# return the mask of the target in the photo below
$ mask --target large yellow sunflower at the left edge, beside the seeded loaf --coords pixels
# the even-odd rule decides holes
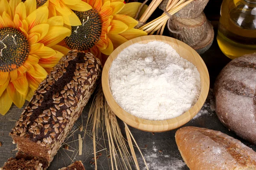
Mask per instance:
[[[36,0],[0,0],[0,113],[21,108],[47,72],[67,53],[56,45],[70,34],[62,16],[48,19]]]

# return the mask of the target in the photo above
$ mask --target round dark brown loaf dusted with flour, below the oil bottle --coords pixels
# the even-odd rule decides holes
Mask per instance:
[[[218,75],[213,93],[220,121],[256,144],[256,53],[228,63]]]

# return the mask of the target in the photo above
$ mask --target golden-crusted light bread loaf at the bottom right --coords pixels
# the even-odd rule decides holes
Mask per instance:
[[[256,152],[220,131],[188,126],[175,139],[190,170],[256,170]]]

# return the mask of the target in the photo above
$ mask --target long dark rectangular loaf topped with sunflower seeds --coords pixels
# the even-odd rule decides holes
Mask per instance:
[[[93,93],[99,59],[77,50],[63,56],[41,82],[10,135],[20,152],[51,162]]]

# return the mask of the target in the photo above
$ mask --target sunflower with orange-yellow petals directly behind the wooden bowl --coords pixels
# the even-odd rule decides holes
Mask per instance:
[[[147,35],[135,29],[137,20],[125,14],[118,14],[124,0],[83,0],[92,9],[74,11],[81,21],[81,26],[72,26],[72,33],[60,45],[81,51],[90,50],[97,57],[110,55],[122,43],[135,37]]]

